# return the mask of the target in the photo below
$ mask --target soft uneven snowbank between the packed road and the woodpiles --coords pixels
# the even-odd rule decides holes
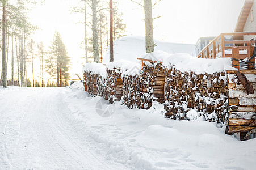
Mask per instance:
[[[110,117],[96,113],[101,97],[79,99],[66,89],[65,101],[77,120],[74,128],[88,132],[96,152],[106,160],[131,169],[254,169],[256,139],[237,141],[225,134],[225,126],[197,120],[164,118],[163,105],[127,109],[116,102]],[[150,113],[150,114],[149,114]],[[85,127],[78,126],[85,121]],[[234,149],[236,148],[236,149]]]

